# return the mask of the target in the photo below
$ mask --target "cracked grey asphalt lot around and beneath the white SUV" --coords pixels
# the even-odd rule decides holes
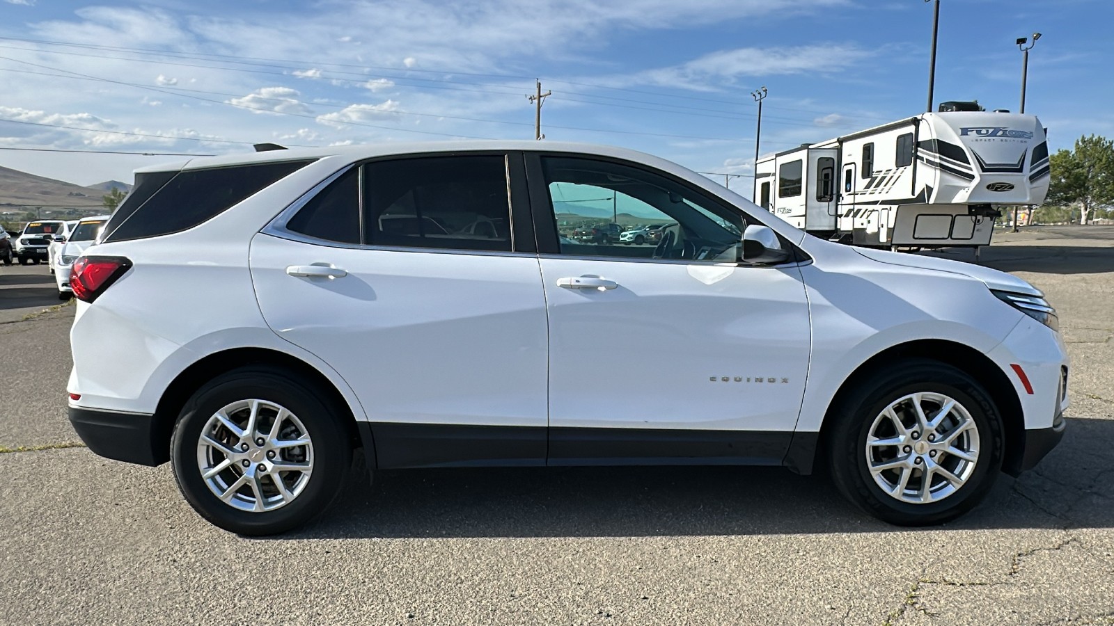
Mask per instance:
[[[822,475],[563,468],[361,473],[311,526],[238,537],[168,466],[68,447],[74,307],[23,320],[6,290],[49,274],[0,267],[0,450],[31,449],[0,453],[0,624],[1114,625],[1114,228],[995,238],[981,263],[1059,310],[1068,430],[931,529],[868,518]]]

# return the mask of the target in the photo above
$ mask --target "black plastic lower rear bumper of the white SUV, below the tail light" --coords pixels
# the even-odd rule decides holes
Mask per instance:
[[[101,457],[140,466],[169,460],[169,450],[159,444],[165,439],[154,415],[70,407],[69,419],[81,441]]]

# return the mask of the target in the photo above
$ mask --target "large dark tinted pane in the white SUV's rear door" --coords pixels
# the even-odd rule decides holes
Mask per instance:
[[[502,156],[407,158],[363,167],[363,243],[510,251]]]

